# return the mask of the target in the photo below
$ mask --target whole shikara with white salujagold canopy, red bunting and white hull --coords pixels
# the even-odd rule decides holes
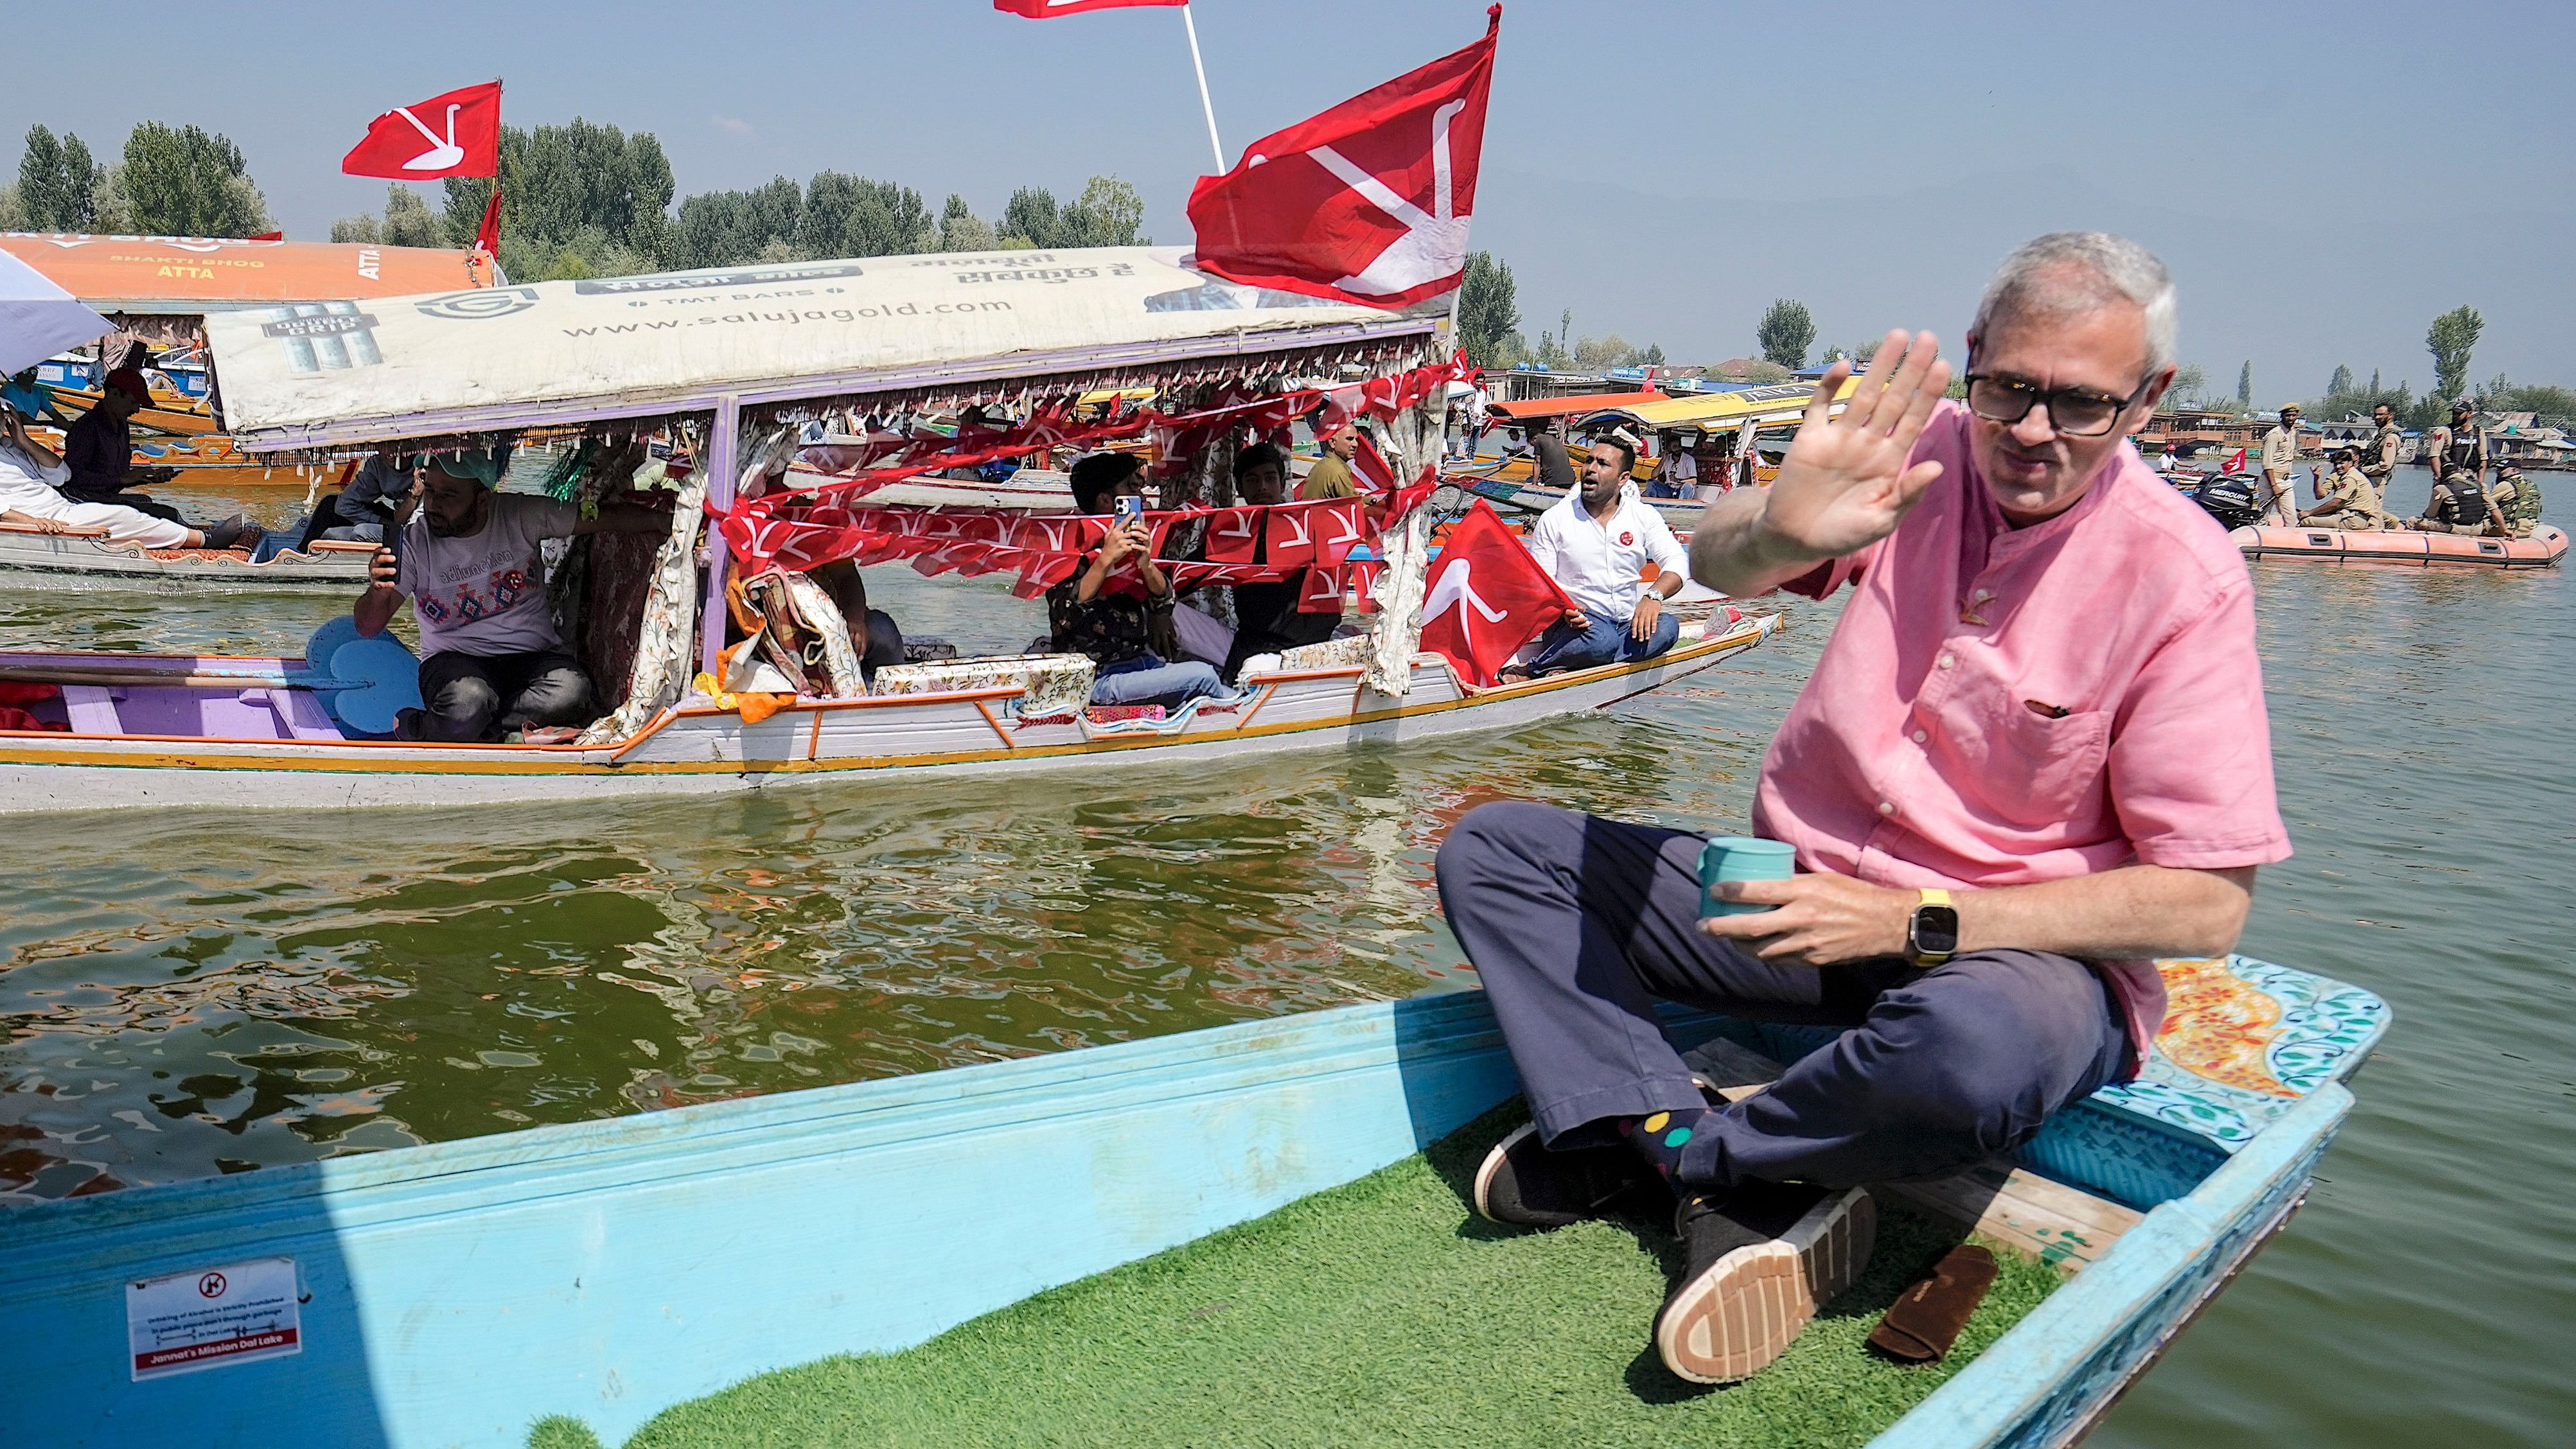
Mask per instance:
[[[909,677],[902,690],[886,677],[876,690],[855,679],[796,685],[796,692],[716,690],[714,682],[729,677],[726,610],[719,605],[708,618],[703,600],[726,597],[729,538],[760,535],[716,522],[804,528],[793,489],[811,479],[793,474],[788,458],[809,422],[853,412],[953,414],[1002,399],[1043,412],[1051,399],[1141,386],[1172,399],[1216,399],[1203,417],[1221,422],[1239,409],[1267,409],[1285,425],[1298,409],[1329,401],[1378,417],[1394,466],[1419,479],[1440,450],[1440,391],[1425,378],[1450,358],[1445,314],[1262,293],[1190,270],[1177,247],[793,263],[389,299],[368,309],[374,355],[394,365],[317,368],[291,345],[299,337],[281,337],[260,314],[211,317],[227,430],[247,448],[312,458],[379,443],[489,443],[520,430],[546,430],[559,445],[585,430],[623,430],[629,443],[639,430],[657,430],[657,438],[690,438],[696,458],[729,461],[688,468],[670,538],[659,540],[649,577],[631,579],[644,605],[623,679],[608,674],[608,664],[592,667],[616,713],[574,744],[404,744],[358,736],[337,726],[337,710],[317,708],[332,703],[309,697],[330,679],[319,661],[36,649],[0,656],[0,672],[59,685],[62,697],[33,705],[54,728],[0,731],[0,811],[585,800],[1404,741],[1615,705],[1762,641],[1775,623],[1713,613],[1659,659],[1473,690],[1448,659],[1417,651],[1430,533],[1427,510],[1417,507],[1430,484],[1417,481],[1404,489],[1412,502],[1399,507],[1388,494],[1378,517],[1373,569],[1383,569],[1376,600],[1383,607],[1363,615],[1368,633],[1247,674],[1247,692],[1231,705],[1203,700],[1167,718],[1103,715],[1084,708],[1087,659],[1079,661],[1084,679],[1061,697],[1074,667],[1066,656],[948,661]],[[1319,376],[1332,381],[1303,381]],[[1404,394],[1406,381],[1412,394]],[[1066,417],[1064,427],[1105,443],[1118,440],[1118,430],[1170,430],[1177,414],[1046,417]],[[1030,450],[1066,438],[1072,432],[1059,427]],[[940,471],[948,461],[938,461]],[[925,510],[858,492],[920,476],[860,471],[827,484],[848,489],[868,517],[909,517],[927,533]],[[737,479],[783,481],[788,492],[755,497],[744,489],[737,499]],[[760,504],[762,497],[770,504]],[[791,499],[788,512],[744,522],[755,504],[775,499]],[[1350,507],[1358,520],[1358,504]],[[1154,517],[1193,520],[1188,504]],[[1079,551],[997,543],[1020,538],[1015,530],[1064,530],[1079,520],[943,510],[938,528],[969,553],[914,548],[894,556],[920,571],[1018,566],[1023,597],[1043,592],[1079,558]],[[999,553],[1025,561],[994,564]],[[1404,558],[1412,566],[1401,566]],[[796,569],[819,561],[806,556]],[[1064,571],[1038,577],[1048,561]],[[592,574],[590,584],[600,579]],[[1342,597],[1340,574],[1327,584]],[[634,610],[634,597],[618,595],[618,607]],[[1030,605],[1030,628],[1041,620]],[[618,682],[623,687],[613,690]]]

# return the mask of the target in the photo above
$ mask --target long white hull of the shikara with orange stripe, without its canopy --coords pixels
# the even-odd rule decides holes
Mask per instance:
[[[1718,615],[1723,620],[1723,615]],[[984,687],[848,700],[799,697],[747,723],[688,697],[603,744],[397,744],[345,734],[299,685],[301,659],[0,654],[0,677],[52,682],[36,705],[70,731],[0,731],[0,813],[121,806],[440,806],[605,800],[644,793],[775,790],[863,775],[1100,770],[1221,762],[1275,749],[1414,741],[1618,705],[1759,643],[1777,615],[1721,625],[1641,664],[1466,690],[1448,659],[1414,659],[1388,697],[1360,664],[1249,674],[1234,708],[1162,723],[1030,718],[1025,659],[961,659]]]

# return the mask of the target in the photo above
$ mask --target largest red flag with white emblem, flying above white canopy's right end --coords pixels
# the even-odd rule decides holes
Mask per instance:
[[[1247,286],[1409,306],[1458,286],[1476,208],[1492,26],[1463,51],[1252,142],[1190,190],[1198,268]]]

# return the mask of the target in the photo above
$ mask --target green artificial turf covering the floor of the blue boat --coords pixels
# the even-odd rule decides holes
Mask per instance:
[[[1674,1380],[1646,1338],[1677,1248],[1646,1225],[1515,1233],[1466,1184],[1520,1107],[1355,1184],[1043,1292],[902,1354],[837,1356],[675,1405],[626,1449],[863,1444],[1865,1444],[2058,1284],[2002,1277],[1937,1367],[1862,1338],[1955,1230],[1880,1212],[1857,1289],[1752,1380]],[[1994,1243],[1989,1243],[1994,1246]],[[531,1449],[587,1449],[551,1418]]]

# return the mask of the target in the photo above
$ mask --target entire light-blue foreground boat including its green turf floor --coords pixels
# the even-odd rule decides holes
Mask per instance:
[[[1690,1400],[1631,1382],[1659,1238],[1458,1197],[1517,1096],[1479,991],[41,1202],[0,1215],[0,1336],[64,1444],[2071,1444],[2298,1210],[2388,1029],[2300,970],[2159,965],[2138,1081],[1873,1189],[1870,1277]],[[1667,1032],[1734,1068],[1829,1037]],[[1868,1359],[1965,1233],[1996,1315]],[[137,1367],[188,1351],[137,1318],[173,1284],[263,1282],[258,1336]],[[1484,1328],[1533,1313],[1548,1343]]]

